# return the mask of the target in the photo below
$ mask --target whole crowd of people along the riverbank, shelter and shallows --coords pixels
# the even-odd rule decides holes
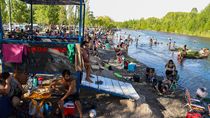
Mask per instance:
[[[66,28],[61,28],[59,31],[56,30],[46,30],[45,34],[48,36],[67,36],[74,34],[73,32],[67,33]],[[25,34],[23,30],[16,30],[15,32],[20,32],[22,38]],[[35,35],[40,35],[37,30],[34,32]],[[116,53],[117,63],[122,65],[121,69],[128,69],[129,60],[125,59],[124,52],[128,53],[129,45],[132,45],[133,39],[135,39],[136,45],[140,42],[140,35],[136,38],[132,38],[129,34],[127,37],[118,36],[117,41],[114,38],[109,38],[113,32],[111,30],[85,30],[85,38],[81,43],[81,56],[84,61],[84,68],[86,70],[86,80],[93,83],[91,80],[91,63],[90,56],[99,56],[98,49],[114,50]],[[78,35],[78,32],[75,32]],[[8,35],[9,38],[16,38],[15,35]],[[110,40],[111,39],[111,40]],[[116,45],[114,45],[114,42]],[[171,40],[170,40],[171,42]],[[175,47],[175,43],[169,43],[169,49]],[[150,39],[150,44],[161,44],[157,39]],[[172,45],[172,46],[171,46]],[[180,59],[187,55],[187,45],[184,46],[182,54],[180,54]],[[206,50],[203,50],[205,52]],[[200,52],[203,54],[203,52]],[[179,56],[179,55],[178,55]],[[14,76],[13,76],[14,75]],[[21,97],[25,90],[22,88],[20,82],[16,79],[15,73],[11,75],[8,72],[3,72],[0,75],[0,118],[6,118],[21,104]],[[173,93],[177,87],[177,82],[179,80],[178,71],[173,60],[169,60],[165,65],[165,78],[158,79],[154,68],[146,69],[146,81],[151,83],[155,90],[161,94]],[[83,117],[82,105],[79,99],[79,91],[77,91],[76,79],[72,76],[70,70],[64,70],[62,72],[62,79],[53,81],[50,84],[51,90],[56,89],[56,86],[60,85],[60,91],[65,91],[64,95],[58,100],[59,110],[61,111],[62,117],[64,116],[64,103],[69,99],[73,100],[76,108],[78,110],[80,118]],[[5,108],[5,106],[7,108]]]

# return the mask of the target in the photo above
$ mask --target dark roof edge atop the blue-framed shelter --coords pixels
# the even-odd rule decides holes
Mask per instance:
[[[28,4],[39,4],[39,5],[80,5],[80,0],[21,0]],[[82,0],[84,4],[84,0]]]

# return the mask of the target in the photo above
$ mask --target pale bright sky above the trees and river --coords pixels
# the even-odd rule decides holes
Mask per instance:
[[[161,18],[168,12],[200,12],[210,0],[90,0],[94,16],[109,16],[115,21],[148,17]]]

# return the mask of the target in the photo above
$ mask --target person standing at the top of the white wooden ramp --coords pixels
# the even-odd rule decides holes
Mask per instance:
[[[86,80],[90,83],[93,83],[93,81],[90,79],[91,65],[90,65],[90,55],[88,51],[88,42],[87,41],[82,42],[81,47],[82,47],[81,54],[86,69]]]

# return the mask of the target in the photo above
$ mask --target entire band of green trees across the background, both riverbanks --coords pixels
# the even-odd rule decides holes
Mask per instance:
[[[128,28],[156,30],[210,37],[210,4],[201,12],[169,12],[163,18],[147,18],[115,22],[108,16],[95,17],[86,2],[85,25],[87,27]],[[0,0],[3,23],[9,23],[9,0]],[[11,0],[12,23],[30,23],[30,6],[20,0]],[[79,7],[34,5],[34,23],[41,25],[78,25]]]

